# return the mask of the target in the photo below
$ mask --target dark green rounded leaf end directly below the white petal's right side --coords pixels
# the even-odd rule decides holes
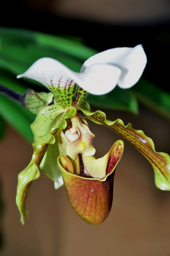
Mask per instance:
[[[87,101],[98,108],[114,109],[138,113],[138,103],[129,90],[116,87],[105,95],[88,95]]]

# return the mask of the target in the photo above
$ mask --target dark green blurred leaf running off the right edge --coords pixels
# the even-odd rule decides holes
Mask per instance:
[[[141,78],[131,89],[143,105],[170,119],[170,94]]]

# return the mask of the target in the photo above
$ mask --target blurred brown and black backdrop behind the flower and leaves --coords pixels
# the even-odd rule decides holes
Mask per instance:
[[[80,37],[99,52],[142,44],[148,57],[143,78],[169,91],[168,0],[1,0],[0,26]],[[110,120],[119,117],[143,130],[153,139],[156,151],[170,152],[169,121],[163,114],[141,104],[138,115],[100,109]],[[96,134],[95,156],[101,157],[120,137],[105,127],[89,125]],[[22,226],[15,204],[17,175],[28,165],[32,146],[8,123],[0,156],[2,255],[170,255],[170,193],[155,187],[152,167],[128,142],[115,174],[112,211],[100,226],[82,221],[64,187],[55,190],[43,173],[31,186],[29,216]]]

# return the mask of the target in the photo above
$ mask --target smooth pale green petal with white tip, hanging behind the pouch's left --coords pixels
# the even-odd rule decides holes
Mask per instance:
[[[58,167],[57,157],[59,156],[57,140],[53,145],[49,145],[47,151],[41,161],[40,168],[44,174],[54,181],[55,189],[63,185],[62,174]]]

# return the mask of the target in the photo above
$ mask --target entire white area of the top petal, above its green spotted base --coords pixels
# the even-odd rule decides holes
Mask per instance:
[[[84,62],[81,73],[68,69],[57,60],[41,58],[17,78],[29,77],[49,89],[77,83],[89,93],[101,95],[111,91],[116,84],[121,88],[133,86],[142,75],[146,62],[142,46],[137,45],[96,54]]]

